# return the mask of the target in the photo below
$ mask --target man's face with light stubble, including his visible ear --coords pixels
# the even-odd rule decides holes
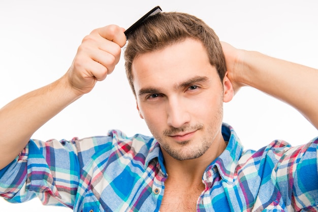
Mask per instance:
[[[221,83],[201,42],[187,39],[139,55],[132,70],[137,109],[164,155],[187,160],[215,150],[222,105],[233,92],[227,77]]]

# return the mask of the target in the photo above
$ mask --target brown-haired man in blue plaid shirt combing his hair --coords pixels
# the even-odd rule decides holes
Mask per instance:
[[[154,138],[113,130],[70,142],[29,140],[111,74],[124,45],[118,26],[93,30],[65,76],[1,110],[3,197],[38,195],[75,211],[318,210],[318,139],[243,152],[234,130],[222,125],[222,102],[248,85],[288,102],[317,128],[318,70],[221,46],[187,14],[148,19],[126,47],[137,109]]]

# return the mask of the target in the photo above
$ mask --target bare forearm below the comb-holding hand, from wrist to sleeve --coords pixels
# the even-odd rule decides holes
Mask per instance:
[[[63,78],[29,92],[0,110],[0,169],[25,147],[31,135],[79,98]]]

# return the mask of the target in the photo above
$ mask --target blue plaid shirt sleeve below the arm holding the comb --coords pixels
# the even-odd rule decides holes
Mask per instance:
[[[107,140],[107,136],[30,140],[17,158],[0,170],[0,196],[9,202],[38,196],[43,204],[73,208],[82,168]]]

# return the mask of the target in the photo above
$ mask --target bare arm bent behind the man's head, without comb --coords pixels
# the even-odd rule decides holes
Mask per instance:
[[[234,89],[257,88],[297,109],[318,129],[318,70],[222,43]]]

